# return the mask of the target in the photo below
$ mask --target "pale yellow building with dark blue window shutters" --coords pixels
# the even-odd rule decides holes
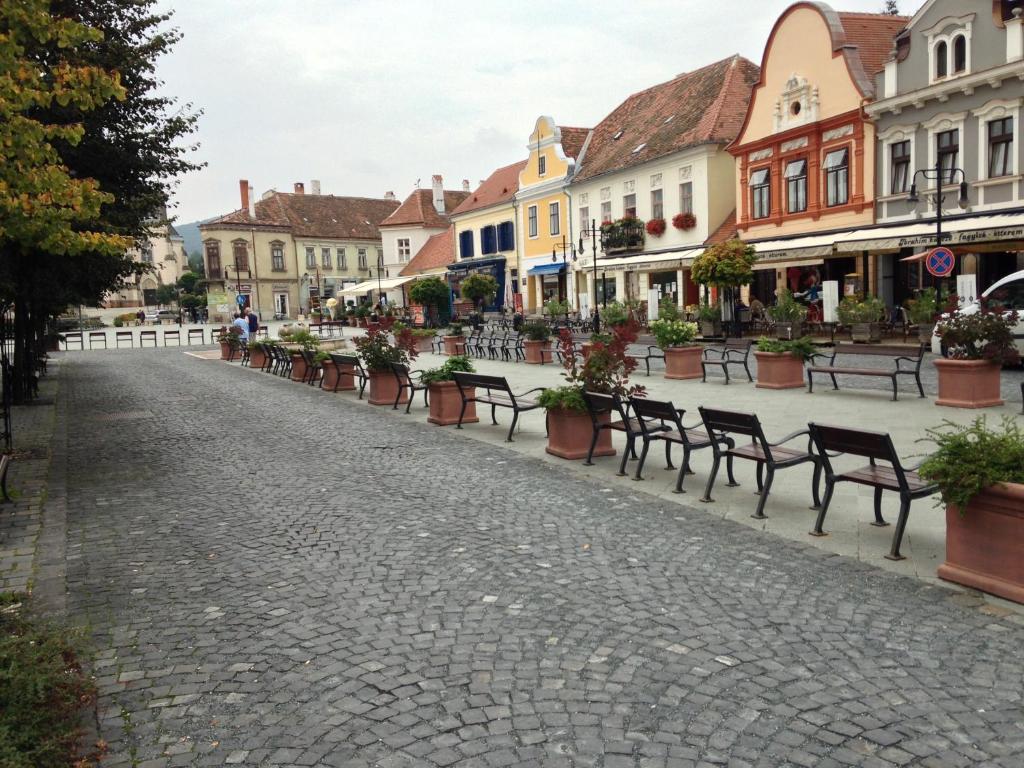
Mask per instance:
[[[525,166],[526,161],[520,161],[499,168],[452,213],[455,259],[449,267],[450,284],[458,293],[467,275],[492,275],[499,291],[485,311],[514,307],[516,295],[521,300],[515,195]]]

